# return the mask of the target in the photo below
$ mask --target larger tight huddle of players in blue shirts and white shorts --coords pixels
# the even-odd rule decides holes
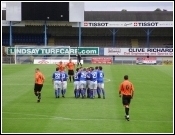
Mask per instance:
[[[75,97],[79,98],[101,98],[101,92],[105,99],[104,91],[104,72],[102,67],[77,68],[74,75],[74,93]]]

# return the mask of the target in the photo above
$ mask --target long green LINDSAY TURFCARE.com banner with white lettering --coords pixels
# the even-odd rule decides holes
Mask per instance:
[[[99,47],[71,47],[70,55],[99,55]],[[14,55],[15,47],[7,47],[7,55]],[[16,55],[69,55],[69,47],[16,47]]]

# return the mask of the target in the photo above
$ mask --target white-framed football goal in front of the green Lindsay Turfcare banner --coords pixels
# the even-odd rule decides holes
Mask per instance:
[[[14,53],[15,64],[33,64],[36,60],[69,60],[71,53],[70,46],[28,46],[28,45],[16,45],[11,49]],[[41,63],[44,64],[44,63]]]

